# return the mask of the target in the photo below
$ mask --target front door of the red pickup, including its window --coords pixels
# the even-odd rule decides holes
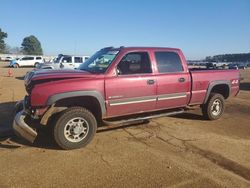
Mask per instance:
[[[151,111],[156,105],[156,82],[147,52],[132,52],[117,65],[117,76],[105,80],[107,115]]]

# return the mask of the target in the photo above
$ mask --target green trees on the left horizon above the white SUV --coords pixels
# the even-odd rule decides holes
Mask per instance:
[[[30,35],[23,39],[21,47],[10,47],[5,43],[5,39],[8,37],[8,33],[2,31],[0,28],[0,53],[8,54],[25,54],[25,55],[43,55],[43,49],[40,41],[34,36]]]

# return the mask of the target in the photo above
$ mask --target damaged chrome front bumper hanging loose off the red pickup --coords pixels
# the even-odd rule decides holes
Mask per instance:
[[[37,137],[37,132],[24,121],[25,117],[27,116],[27,112],[25,111],[24,107],[24,101],[20,101],[16,104],[16,110],[19,112],[17,112],[12,125],[15,134],[33,143]]]

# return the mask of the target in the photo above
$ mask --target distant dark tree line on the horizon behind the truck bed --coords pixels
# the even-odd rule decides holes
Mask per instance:
[[[250,53],[222,54],[206,57],[207,62],[250,62]]]

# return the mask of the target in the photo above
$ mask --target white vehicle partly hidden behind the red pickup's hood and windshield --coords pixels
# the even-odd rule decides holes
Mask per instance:
[[[53,62],[44,63],[40,69],[77,69],[89,56],[70,56],[59,54]]]

